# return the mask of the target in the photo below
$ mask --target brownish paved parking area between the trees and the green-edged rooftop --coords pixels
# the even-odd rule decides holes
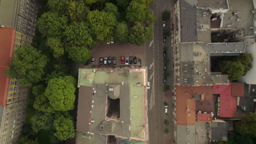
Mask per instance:
[[[121,56],[137,57],[137,64],[132,63],[129,65],[144,66],[144,46],[136,46],[135,44],[97,44],[94,46],[94,49],[92,49],[91,55],[91,57],[95,57],[94,65],[100,65],[100,57],[112,57],[112,63],[113,57],[116,57],[116,67],[120,65],[125,65],[121,64]],[[141,64],[139,62],[139,59],[141,59]],[[91,67],[92,64],[90,63],[88,66]]]

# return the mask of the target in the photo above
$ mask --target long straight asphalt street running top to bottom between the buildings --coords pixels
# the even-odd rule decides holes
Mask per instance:
[[[164,64],[163,64],[163,36],[162,36],[162,17],[164,10],[170,10],[175,0],[155,0],[150,4],[153,14],[156,17],[154,26],[153,39],[147,41],[145,45],[146,66],[148,67],[148,80],[150,89],[148,89],[148,124],[149,124],[149,143],[164,144],[174,143],[174,125],[172,113],[172,95],[171,92],[164,92]],[[170,20],[166,22],[166,28],[171,29]],[[173,51],[171,47],[171,38],[167,37],[166,43],[167,57],[170,59],[167,64],[167,70],[170,76],[167,78],[167,84],[173,89]],[[164,110],[164,101],[168,103],[168,113]],[[164,124],[164,119],[168,119],[169,125]],[[164,134],[164,129],[168,128],[169,133]]]

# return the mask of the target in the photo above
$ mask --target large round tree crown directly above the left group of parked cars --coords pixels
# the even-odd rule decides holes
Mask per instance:
[[[94,10],[89,12],[87,18],[95,40],[107,43],[112,39],[117,25],[117,18],[113,13]]]

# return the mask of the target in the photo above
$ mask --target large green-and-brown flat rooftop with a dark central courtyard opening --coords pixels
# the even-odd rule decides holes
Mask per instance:
[[[77,131],[146,141],[145,86],[145,69],[79,69]],[[108,109],[119,109],[119,114],[106,117]]]

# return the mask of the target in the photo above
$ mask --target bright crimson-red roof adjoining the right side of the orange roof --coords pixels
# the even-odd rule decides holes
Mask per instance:
[[[214,85],[213,94],[220,95],[219,116],[236,117],[236,97],[232,97],[232,83]]]

